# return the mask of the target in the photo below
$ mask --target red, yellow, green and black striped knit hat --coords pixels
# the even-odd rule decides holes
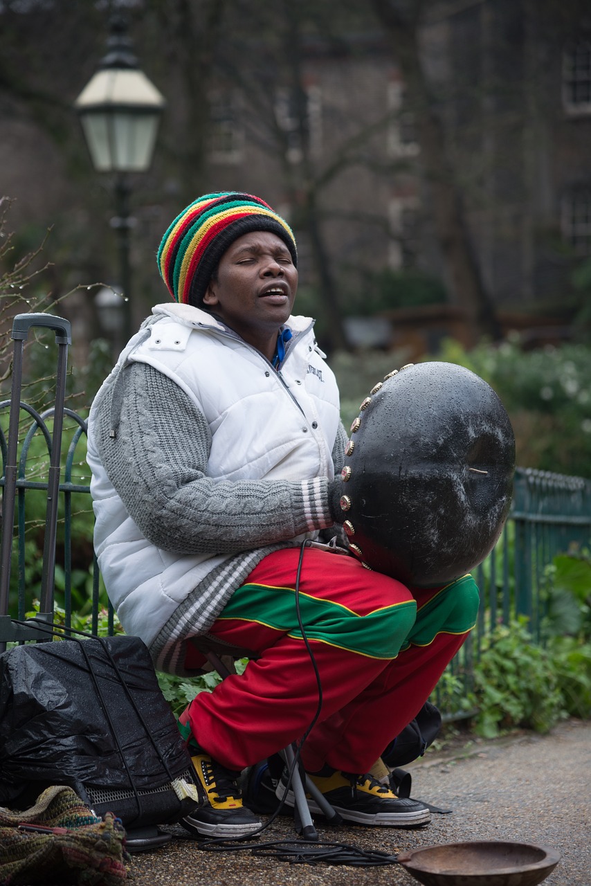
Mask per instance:
[[[236,190],[199,197],[167,229],[157,261],[162,279],[175,301],[203,306],[203,296],[229,245],[252,230],[281,237],[298,263],[290,226],[264,200]]]

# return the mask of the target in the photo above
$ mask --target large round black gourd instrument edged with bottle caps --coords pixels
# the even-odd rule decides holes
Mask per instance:
[[[437,361],[395,370],[351,426],[340,499],[349,546],[407,585],[453,581],[494,548],[514,470],[509,416],[482,378]]]

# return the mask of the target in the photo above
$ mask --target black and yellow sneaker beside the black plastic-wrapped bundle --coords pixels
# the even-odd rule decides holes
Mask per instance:
[[[232,837],[253,834],[261,828],[261,819],[242,804],[237,786],[240,773],[226,769],[206,754],[191,747],[193,766],[206,792],[207,803],[181,819],[191,834],[208,837]]]

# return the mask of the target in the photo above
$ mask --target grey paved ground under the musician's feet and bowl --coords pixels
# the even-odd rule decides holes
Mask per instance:
[[[323,828],[321,839],[392,853],[433,843],[517,840],[561,852],[548,886],[591,886],[591,722],[569,721],[549,735],[517,734],[495,742],[470,742],[429,750],[407,767],[414,797],[453,809],[433,815],[420,830]],[[136,854],[134,886],[412,886],[398,865],[345,867],[292,865],[245,851],[201,851],[182,828],[171,843]],[[292,820],[281,818],[265,840],[292,839]],[[263,837],[261,837],[261,840]]]

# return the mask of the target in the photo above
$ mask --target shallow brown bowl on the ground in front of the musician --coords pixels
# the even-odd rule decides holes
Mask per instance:
[[[548,846],[510,840],[442,843],[398,856],[424,886],[536,886],[559,859],[560,853]]]

